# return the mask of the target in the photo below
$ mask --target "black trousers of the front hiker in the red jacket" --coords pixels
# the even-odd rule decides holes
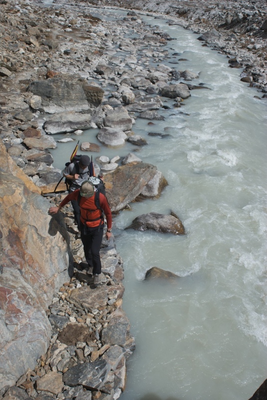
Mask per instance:
[[[93,228],[80,222],[81,241],[86,262],[93,267],[93,274],[101,273],[100,247],[103,238],[104,224]]]

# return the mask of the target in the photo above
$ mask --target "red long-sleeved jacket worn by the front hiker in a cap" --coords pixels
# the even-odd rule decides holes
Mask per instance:
[[[79,189],[76,189],[69,193],[64,200],[61,201],[60,206],[63,207],[66,205],[70,200],[78,200],[78,195],[79,195]],[[95,205],[95,200],[94,200],[95,194],[92,195],[92,197],[83,197],[80,196],[80,211],[81,211],[81,222],[86,223],[87,226],[89,227],[94,227],[98,226],[100,222],[100,218],[102,215],[102,210],[97,208]],[[111,229],[112,226],[112,215],[111,215],[111,210],[110,206],[107,202],[106,196],[104,194],[99,193],[99,202],[100,206],[103,209],[106,218],[107,218],[107,228]],[[102,220],[101,223],[104,223]]]

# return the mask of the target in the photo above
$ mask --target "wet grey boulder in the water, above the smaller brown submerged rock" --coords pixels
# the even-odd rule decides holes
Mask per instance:
[[[126,229],[147,230],[152,229],[157,232],[185,234],[185,228],[177,216],[150,212],[137,216],[131,225]]]

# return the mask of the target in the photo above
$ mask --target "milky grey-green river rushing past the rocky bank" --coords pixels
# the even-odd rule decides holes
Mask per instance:
[[[125,15],[105,14],[114,20]],[[156,165],[169,185],[159,199],[132,203],[131,211],[115,217],[125,268],[123,308],[136,339],[120,398],[247,400],[267,377],[266,102],[240,81],[241,70],[230,68],[226,55],[202,46],[196,33],[153,16],[142,19],[175,39],[162,63],[200,73],[192,83],[209,89],[192,90],[180,108],[160,109],[165,120],[154,126],[140,118],[133,125],[148,142],[136,154]],[[177,57],[187,61],[172,63]],[[97,143],[97,131],[79,138]],[[151,131],[172,137],[149,136]],[[51,151],[55,167],[62,168],[72,147],[58,143]],[[102,146],[95,154],[124,157],[133,149],[130,143]],[[137,215],[170,210],[182,220],[185,236],[124,230]],[[176,284],[146,282],[152,266],[181,278]]]

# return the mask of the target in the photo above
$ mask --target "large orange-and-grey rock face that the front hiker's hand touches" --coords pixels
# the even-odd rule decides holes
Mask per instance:
[[[71,273],[66,231],[49,202],[0,143],[0,387],[14,384],[48,347],[45,310]],[[17,175],[17,176],[16,176]],[[23,180],[21,179],[23,177]]]

